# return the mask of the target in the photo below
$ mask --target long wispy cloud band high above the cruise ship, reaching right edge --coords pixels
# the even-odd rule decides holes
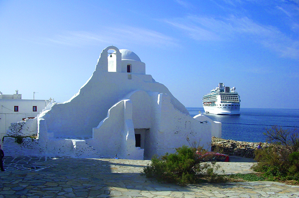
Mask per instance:
[[[283,57],[299,58],[299,41],[273,26],[255,23],[247,17],[208,18],[186,16],[165,20],[197,41],[233,41],[246,37]]]

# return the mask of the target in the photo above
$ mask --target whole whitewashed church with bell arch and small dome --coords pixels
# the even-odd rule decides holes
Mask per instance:
[[[109,46],[69,101],[50,103],[7,135],[7,156],[150,159],[188,145],[187,138],[209,149],[211,137],[221,137],[221,123],[192,118],[166,86],[145,74],[134,52]],[[14,136],[24,138],[16,142]]]

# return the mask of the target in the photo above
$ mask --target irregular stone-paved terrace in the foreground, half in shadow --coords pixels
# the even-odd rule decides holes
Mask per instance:
[[[253,162],[217,162],[230,173],[249,173]],[[278,182],[158,183],[139,173],[147,160],[5,157],[0,198],[68,197],[230,197],[299,198],[299,186]]]

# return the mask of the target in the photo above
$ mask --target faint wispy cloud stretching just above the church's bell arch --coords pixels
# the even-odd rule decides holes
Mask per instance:
[[[176,46],[176,40],[160,32],[131,26],[105,27],[100,32],[66,31],[53,37],[41,38],[37,42],[48,45],[98,45],[136,43],[146,46]]]

